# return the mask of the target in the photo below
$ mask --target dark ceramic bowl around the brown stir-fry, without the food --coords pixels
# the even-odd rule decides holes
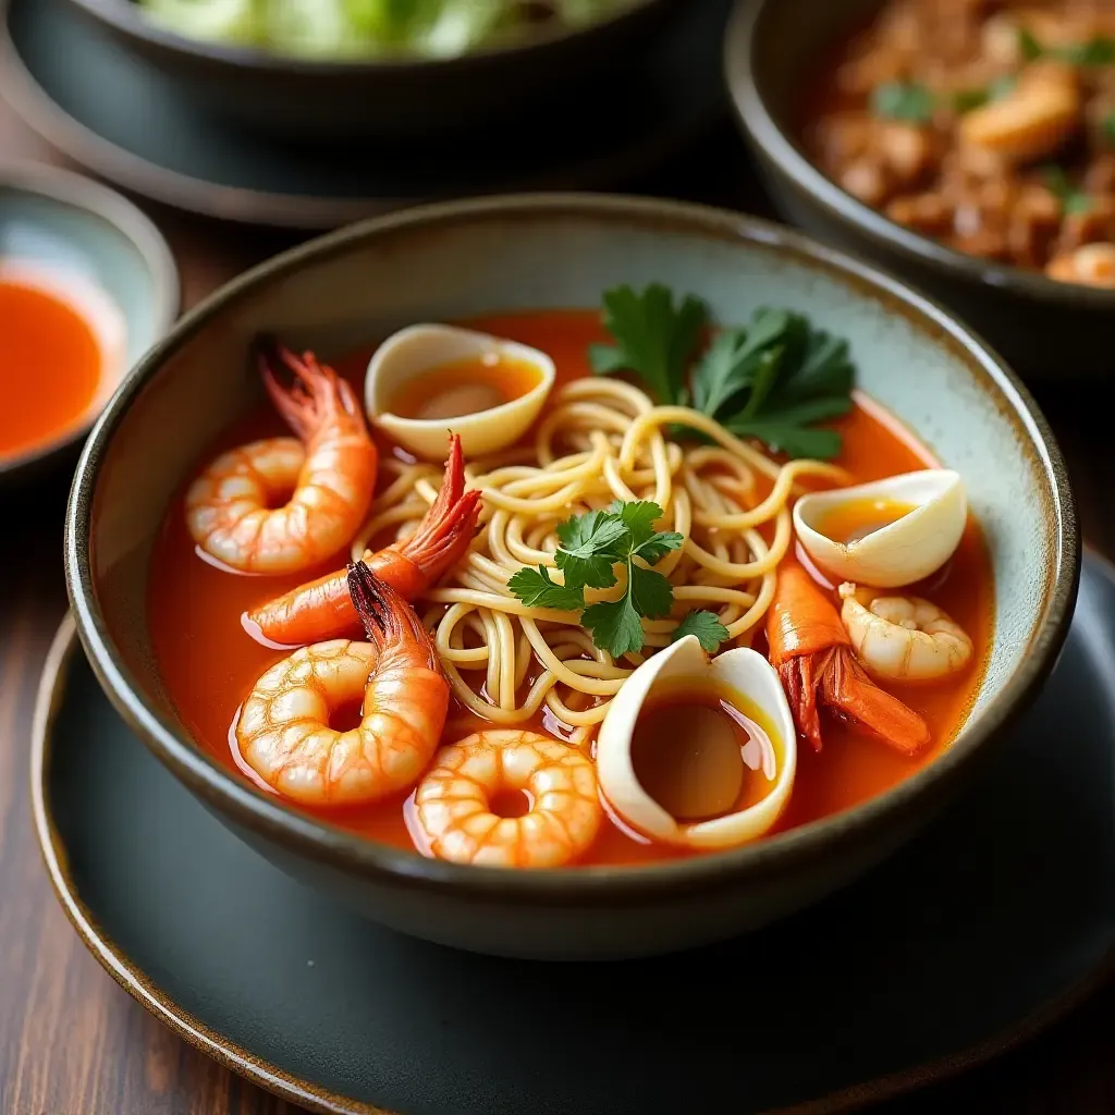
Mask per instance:
[[[803,90],[883,0],[739,0],[725,43],[731,100],[779,214],[946,302],[1029,381],[1105,376],[1115,291],[953,251],[895,224],[815,167],[797,138]]]

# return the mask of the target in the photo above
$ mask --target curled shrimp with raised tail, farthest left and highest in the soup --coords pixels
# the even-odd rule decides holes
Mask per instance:
[[[292,386],[263,351],[260,372],[298,438],[223,453],[186,493],[194,541],[244,573],[297,573],[337,553],[360,529],[376,483],[378,453],[352,388],[312,352],[277,355]]]

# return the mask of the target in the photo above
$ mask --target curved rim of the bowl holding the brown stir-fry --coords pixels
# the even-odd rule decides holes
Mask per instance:
[[[775,0],[737,0],[724,38],[723,60],[728,95],[745,137],[774,162],[794,185],[830,216],[852,225],[874,245],[898,250],[906,260],[935,268],[966,282],[1007,291],[1031,301],[1075,309],[1115,312],[1115,290],[1058,282],[1039,271],[975,255],[912,232],[842,190],[816,167],[779,126],[764,97],[752,59],[759,48],[759,27]],[[875,0],[883,3],[884,0]]]

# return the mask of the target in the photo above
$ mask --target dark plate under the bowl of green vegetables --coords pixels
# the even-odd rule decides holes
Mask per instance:
[[[605,103],[586,97],[498,134],[284,143],[214,117],[66,0],[4,6],[2,88],[31,127],[137,193],[236,221],[316,229],[420,201],[620,186],[682,149],[724,96],[728,2],[702,0]]]

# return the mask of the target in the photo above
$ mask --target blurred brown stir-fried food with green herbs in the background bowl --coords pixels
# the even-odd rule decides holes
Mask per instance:
[[[1111,0],[889,0],[825,71],[804,140],[915,232],[1115,288]]]

